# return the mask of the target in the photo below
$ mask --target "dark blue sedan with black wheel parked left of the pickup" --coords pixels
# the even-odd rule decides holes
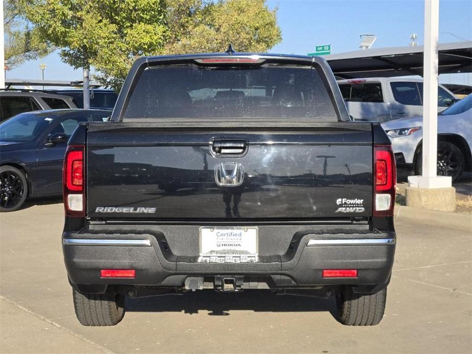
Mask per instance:
[[[103,121],[109,111],[44,110],[0,124],[0,211],[14,211],[29,197],[62,193],[67,140],[79,122]]]

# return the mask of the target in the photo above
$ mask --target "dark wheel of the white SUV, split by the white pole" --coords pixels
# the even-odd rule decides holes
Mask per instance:
[[[450,176],[452,181],[457,181],[464,171],[465,158],[461,150],[448,141],[438,141],[437,174],[439,176]],[[415,173],[421,174],[423,156],[418,151],[415,159]]]

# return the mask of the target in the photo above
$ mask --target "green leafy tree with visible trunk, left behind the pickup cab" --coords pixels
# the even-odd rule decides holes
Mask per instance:
[[[84,108],[89,107],[89,70],[101,64],[114,88],[130,58],[157,52],[166,38],[160,0],[17,0],[41,38],[60,49],[62,60],[84,74]],[[118,60],[114,58],[119,58]],[[115,65],[112,75],[107,62]],[[87,93],[86,93],[87,92]]]

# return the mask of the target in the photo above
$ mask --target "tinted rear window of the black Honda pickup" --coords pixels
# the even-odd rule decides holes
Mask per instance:
[[[146,68],[123,118],[336,120],[328,90],[310,66],[163,65]]]

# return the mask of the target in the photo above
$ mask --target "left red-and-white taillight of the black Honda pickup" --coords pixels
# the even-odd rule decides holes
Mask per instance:
[[[67,147],[62,180],[66,216],[85,216],[84,158],[84,146]]]

